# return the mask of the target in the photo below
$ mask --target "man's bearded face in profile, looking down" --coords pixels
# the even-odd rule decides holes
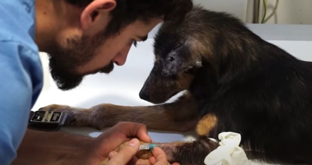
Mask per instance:
[[[125,63],[134,41],[145,40],[161,21],[161,18],[153,18],[149,23],[135,21],[109,38],[101,30],[94,35],[75,35],[56,42],[49,52],[52,78],[60,89],[69,90],[77,87],[85,75],[110,73],[114,63],[119,66]]]

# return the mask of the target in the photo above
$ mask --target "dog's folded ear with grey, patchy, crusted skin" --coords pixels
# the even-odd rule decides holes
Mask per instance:
[[[163,76],[172,76],[193,67],[202,67],[202,61],[199,57],[191,54],[188,46],[183,44],[167,55],[162,74]]]

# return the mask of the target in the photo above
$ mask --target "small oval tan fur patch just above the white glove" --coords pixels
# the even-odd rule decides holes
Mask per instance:
[[[197,124],[196,132],[198,135],[207,136],[207,134],[217,126],[217,116],[207,114]]]

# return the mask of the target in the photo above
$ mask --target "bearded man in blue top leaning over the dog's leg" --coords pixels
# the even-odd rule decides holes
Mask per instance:
[[[90,138],[27,130],[27,120],[42,88],[38,51],[49,54],[58,87],[72,89],[87,74],[123,65],[133,43],[191,7],[191,0],[0,1],[0,164],[89,165],[108,155],[110,164],[168,164],[159,148],[147,162],[133,157],[138,139],[151,141],[141,124],[120,123]],[[130,137],[138,139],[111,152]]]

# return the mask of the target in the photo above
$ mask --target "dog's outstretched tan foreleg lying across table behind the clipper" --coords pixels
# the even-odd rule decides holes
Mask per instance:
[[[40,111],[68,113],[65,126],[89,126],[97,129],[111,127],[120,121],[143,123],[148,129],[188,131],[195,128],[197,102],[188,93],[173,103],[154,106],[118,106],[100,104],[89,109],[49,105]]]

